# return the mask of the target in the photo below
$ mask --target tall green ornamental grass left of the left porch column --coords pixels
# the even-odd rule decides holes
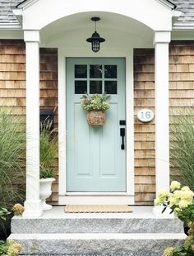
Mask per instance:
[[[13,109],[0,107],[0,239],[10,233],[12,205],[25,199],[25,126]],[[7,212],[8,212],[7,211]]]

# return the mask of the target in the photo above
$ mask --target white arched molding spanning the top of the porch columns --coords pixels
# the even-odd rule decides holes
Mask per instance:
[[[164,1],[163,1],[164,2]],[[38,30],[61,19],[81,12],[113,12],[131,17],[153,31],[172,30],[172,7],[157,0],[90,1],[90,0],[29,0],[18,6],[24,30]],[[155,10],[155,12],[153,12]]]

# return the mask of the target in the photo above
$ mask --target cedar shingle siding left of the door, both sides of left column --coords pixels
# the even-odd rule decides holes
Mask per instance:
[[[40,109],[54,111],[58,128],[58,50],[39,50]],[[23,40],[0,40],[0,105],[12,107],[25,122],[25,43]],[[58,161],[54,167],[58,172]],[[53,203],[58,202],[58,178],[53,183]]]

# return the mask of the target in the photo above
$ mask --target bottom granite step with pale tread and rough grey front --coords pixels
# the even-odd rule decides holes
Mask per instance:
[[[9,239],[19,242],[21,254],[124,254],[159,256],[168,246],[182,243],[185,235],[160,234],[12,234]]]

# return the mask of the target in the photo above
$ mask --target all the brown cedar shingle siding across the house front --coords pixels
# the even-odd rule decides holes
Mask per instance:
[[[155,199],[155,119],[141,123],[142,108],[155,112],[155,50],[134,50],[135,199],[136,205],[153,205]],[[194,42],[169,45],[170,115],[194,106]],[[58,129],[58,50],[40,49],[40,108],[54,111]],[[25,43],[0,40],[0,104],[19,112],[25,122]],[[173,114],[172,114],[173,113]],[[65,114],[65,113],[64,113]],[[58,159],[55,170],[58,173]],[[58,178],[49,198],[58,204]]]

